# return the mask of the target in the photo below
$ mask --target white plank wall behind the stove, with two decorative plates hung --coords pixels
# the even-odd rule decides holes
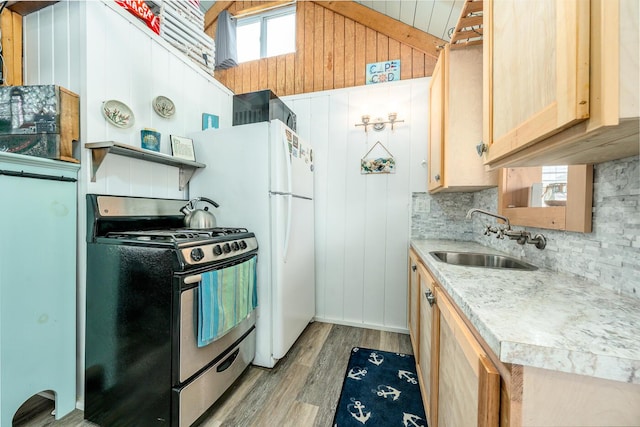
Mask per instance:
[[[84,143],[117,141],[139,147],[140,130],[151,127],[162,133],[161,151],[169,154],[169,135],[200,130],[202,113],[217,114],[221,126],[231,126],[233,94],[115,3],[101,1],[63,1],[24,18],[24,80],[27,85],[60,85],[80,95],[77,393],[83,408],[85,195],[187,197],[178,189],[178,168],[122,156],[108,156],[91,182],[91,153]],[[170,119],[153,111],[151,100],[158,95],[175,103]],[[133,127],[119,129],[105,121],[101,105],[109,99],[133,110]]]

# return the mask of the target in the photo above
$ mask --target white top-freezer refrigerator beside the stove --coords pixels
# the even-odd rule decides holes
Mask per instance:
[[[220,227],[258,239],[256,357],[271,368],[315,315],[311,145],[279,120],[190,135],[198,170],[189,196],[209,197]]]

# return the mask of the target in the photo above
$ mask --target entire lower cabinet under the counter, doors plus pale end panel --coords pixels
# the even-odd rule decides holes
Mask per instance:
[[[502,363],[413,249],[409,259],[429,427],[640,426],[640,386]]]

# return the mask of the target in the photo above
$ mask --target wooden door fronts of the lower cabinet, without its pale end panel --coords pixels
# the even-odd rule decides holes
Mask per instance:
[[[411,285],[420,287],[414,350],[429,426],[497,427],[498,370],[413,250],[409,259]]]

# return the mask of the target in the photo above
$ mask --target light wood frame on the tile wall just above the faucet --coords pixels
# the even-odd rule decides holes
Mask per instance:
[[[500,169],[498,212],[512,225],[591,232],[593,165]]]

